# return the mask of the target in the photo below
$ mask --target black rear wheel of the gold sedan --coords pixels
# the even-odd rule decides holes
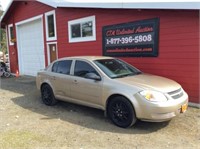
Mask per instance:
[[[52,88],[48,84],[44,84],[41,88],[42,101],[45,105],[53,106],[57,103]]]

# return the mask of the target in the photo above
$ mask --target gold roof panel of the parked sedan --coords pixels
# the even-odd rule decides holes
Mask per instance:
[[[100,60],[100,59],[113,59],[113,57],[107,57],[107,56],[73,56],[73,57],[63,57],[58,59],[59,60],[70,60],[70,59],[77,59],[77,60]]]

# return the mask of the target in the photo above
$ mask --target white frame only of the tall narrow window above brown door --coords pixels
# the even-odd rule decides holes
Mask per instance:
[[[53,19],[54,19],[54,32],[55,32],[55,36],[54,37],[49,37],[48,35],[48,16],[53,15]],[[45,28],[46,28],[46,40],[47,41],[53,41],[53,40],[57,40],[57,28],[56,28],[56,13],[55,10],[53,11],[49,11],[47,13],[45,13]]]

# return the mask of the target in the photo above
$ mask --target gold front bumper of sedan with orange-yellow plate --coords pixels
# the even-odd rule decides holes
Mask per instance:
[[[163,122],[184,113],[188,106],[188,95],[183,91],[183,96],[178,99],[169,99],[166,102],[150,102],[140,94],[135,95],[138,105],[136,105],[136,117],[143,121]]]

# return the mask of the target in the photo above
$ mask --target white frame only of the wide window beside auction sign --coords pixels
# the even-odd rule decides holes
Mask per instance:
[[[88,21],[92,21],[92,36],[72,38],[71,26],[74,25],[74,24],[81,24],[83,22],[88,22]],[[85,18],[80,18],[80,19],[68,21],[68,38],[69,38],[69,43],[95,41],[96,40],[95,16],[89,16],[89,17],[85,17]]]

